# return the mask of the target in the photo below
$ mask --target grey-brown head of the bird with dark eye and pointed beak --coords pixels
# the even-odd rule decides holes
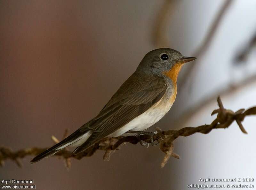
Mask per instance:
[[[179,51],[170,48],[159,48],[149,51],[141,60],[137,71],[162,74],[168,72],[175,64],[184,64],[196,57],[185,57]]]

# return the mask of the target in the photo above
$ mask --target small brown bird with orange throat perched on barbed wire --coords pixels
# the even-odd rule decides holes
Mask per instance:
[[[63,141],[36,156],[31,163],[52,156],[68,146],[79,154],[105,137],[138,134],[164,117],[177,94],[177,77],[184,63],[179,51],[160,48],[148,52],[136,71],[121,85],[100,113]]]

